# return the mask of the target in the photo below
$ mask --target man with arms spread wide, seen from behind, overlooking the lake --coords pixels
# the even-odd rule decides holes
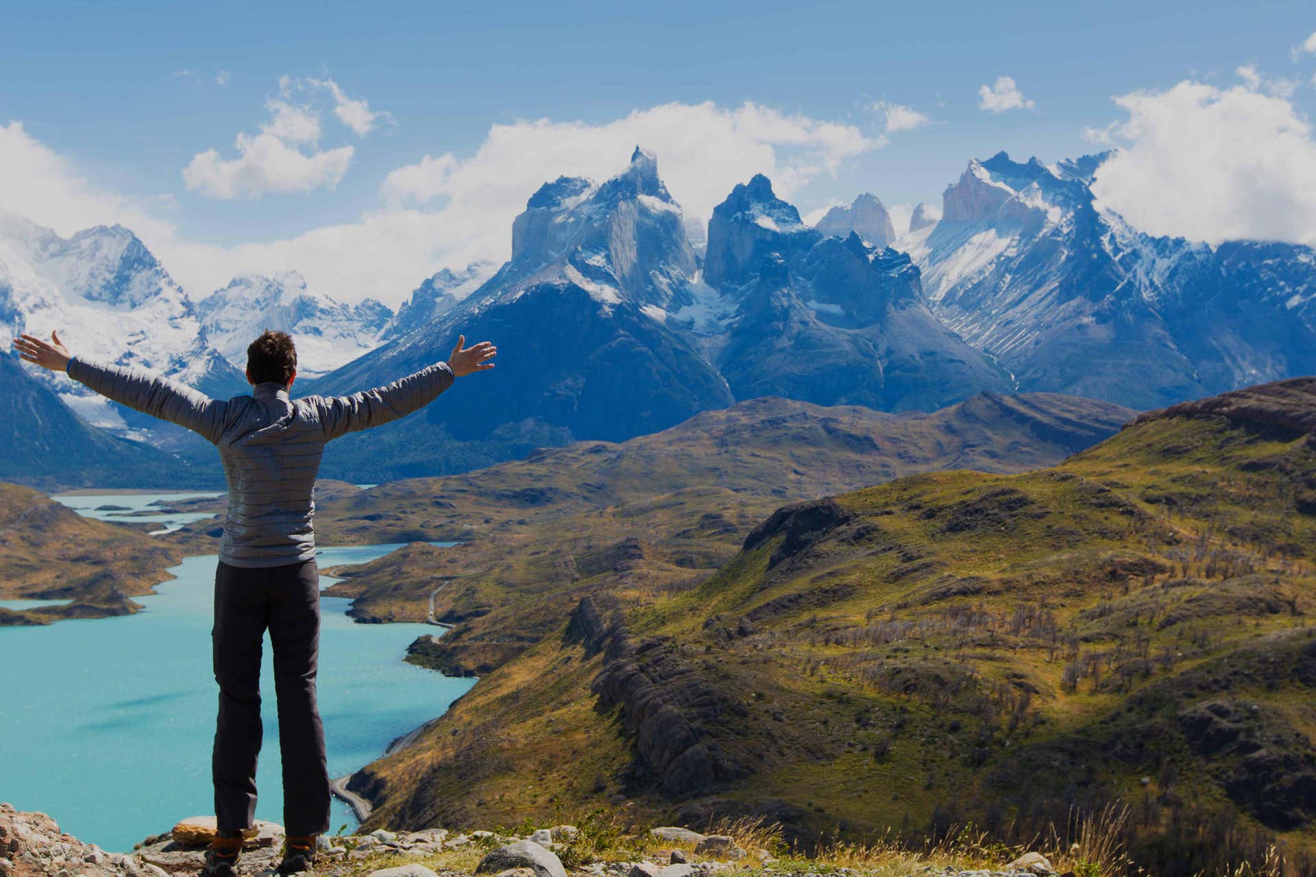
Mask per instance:
[[[291,398],[297,376],[292,338],[265,331],[247,348],[250,396],[207,397],[167,377],[74,355],[51,333],[13,339],[18,355],[67,372],[101,396],[184,426],[213,442],[228,483],[228,511],[215,573],[212,647],[220,688],[212,755],[217,836],[201,874],[233,877],[243,831],[255,817],[261,749],[261,652],[266,628],[274,648],[287,831],[279,873],[309,870],[317,835],[329,830],[329,776],[316,705],[320,577],[313,493],[328,442],[418,410],[455,377],[494,368],[491,342],[465,347],[447,362],[387,387],[350,396]]]

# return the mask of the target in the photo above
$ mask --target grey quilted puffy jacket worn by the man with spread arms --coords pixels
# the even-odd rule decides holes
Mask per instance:
[[[288,398],[283,384],[271,381],[257,384],[251,396],[220,401],[159,375],[80,356],[70,360],[68,376],[220,448],[229,486],[220,560],[232,567],[282,567],[315,557],[311,517],[325,442],[405,417],[453,384],[447,363],[436,363],[351,396]]]

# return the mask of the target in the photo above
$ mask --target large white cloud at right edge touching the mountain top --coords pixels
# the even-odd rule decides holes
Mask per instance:
[[[1245,78],[1246,80],[1246,78]],[[1115,99],[1103,205],[1152,234],[1316,243],[1316,141],[1283,96],[1182,82]]]

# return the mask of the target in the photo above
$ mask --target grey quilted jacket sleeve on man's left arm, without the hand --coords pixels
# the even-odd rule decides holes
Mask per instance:
[[[105,398],[184,426],[211,442],[218,442],[224,433],[228,402],[161,375],[74,356],[68,360],[68,376]]]

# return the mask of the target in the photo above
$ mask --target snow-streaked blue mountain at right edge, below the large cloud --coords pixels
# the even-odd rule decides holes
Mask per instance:
[[[1142,234],[1096,204],[1104,158],[970,162],[898,242],[937,316],[1021,389],[1140,408],[1316,371],[1316,254]]]

